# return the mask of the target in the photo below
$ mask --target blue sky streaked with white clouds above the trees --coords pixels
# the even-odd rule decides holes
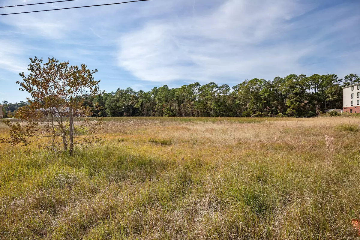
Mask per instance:
[[[0,6],[49,0],[0,0]],[[0,8],[0,13],[116,3]],[[0,16],[0,102],[29,96],[15,82],[29,58],[98,69],[107,92],[288,74],[360,75],[359,0],[152,0]]]

